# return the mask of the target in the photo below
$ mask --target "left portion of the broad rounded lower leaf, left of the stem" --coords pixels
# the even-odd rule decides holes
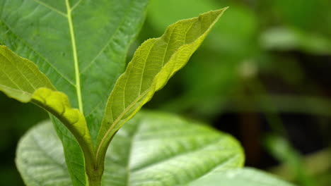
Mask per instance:
[[[25,185],[72,185],[61,141],[50,120],[31,128],[21,138],[16,165]]]

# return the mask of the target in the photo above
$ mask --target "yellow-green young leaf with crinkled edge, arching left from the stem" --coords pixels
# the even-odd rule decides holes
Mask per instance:
[[[81,145],[86,159],[93,159],[93,143],[84,116],[72,109],[66,94],[55,90],[45,74],[26,58],[6,46],[0,46],[0,91],[8,97],[37,106],[52,113],[68,128]]]

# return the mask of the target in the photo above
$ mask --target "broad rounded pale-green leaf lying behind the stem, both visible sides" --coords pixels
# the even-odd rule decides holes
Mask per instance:
[[[16,163],[29,186],[71,184],[54,133],[50,122],[42,123],[18,145]],[[185,185],[243,166],[243,151],[233,137],[168,113],[138,113],[109,149],[103,185]]]

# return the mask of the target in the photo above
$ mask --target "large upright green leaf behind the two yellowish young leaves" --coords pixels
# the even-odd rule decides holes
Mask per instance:
[[[125,67],[148,0],[0,1],[0,43],[29,58],[81,110],[92,141],[105,103]],[[73,185],[86,185],[79,144],[59,120]]]

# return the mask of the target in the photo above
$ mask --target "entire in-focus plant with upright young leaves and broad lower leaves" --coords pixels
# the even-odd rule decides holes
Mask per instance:
[[[134,116],[226,10],[170,25],[141,44],[124,70],[146,6],[146,0],[0,1],[0,90],[48,111],[54,126],[41,123],[19,143],[16,164],[25,184],[232,185],[229,174],[237,182],[255,182],[248,176],[255,174],[286,185],[236,169],[243,151],[229,135],[171,114]]]

